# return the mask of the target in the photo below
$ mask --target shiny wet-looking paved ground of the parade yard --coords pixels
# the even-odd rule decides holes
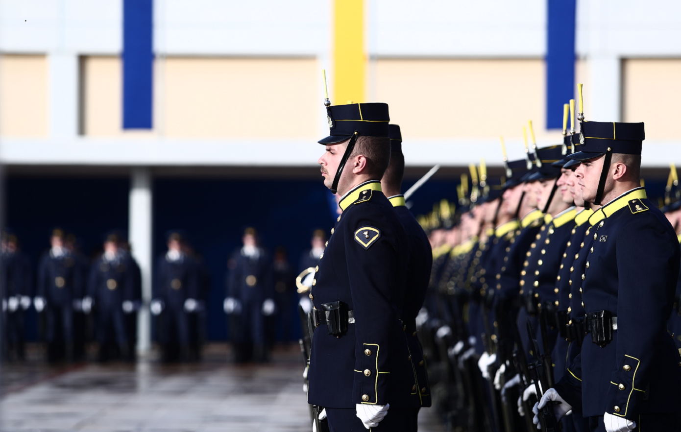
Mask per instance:
[[[310,431],[297,347],[235,366],[225,346],[194,365],[5,365],[1,431]],[[422,410],[423,432],[442,431]]]

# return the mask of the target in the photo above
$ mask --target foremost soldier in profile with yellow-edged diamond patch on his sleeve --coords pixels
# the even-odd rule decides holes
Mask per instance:
[[[331,432],[403,431],[411,425],[414,374],[400,322],[409,238],[380,179],[390,162],[388,107],[327,108],[319,158],[324,184],[341,198],[315,273],[308,402],[325,408]],[[417,389],[420,391],[421,389]]]

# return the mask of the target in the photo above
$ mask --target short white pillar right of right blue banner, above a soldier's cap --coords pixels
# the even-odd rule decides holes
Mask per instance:
[[[588,120],[619,122],[622,116],[622,63],[616,54],[595,54],[589,59],[591,107]]]

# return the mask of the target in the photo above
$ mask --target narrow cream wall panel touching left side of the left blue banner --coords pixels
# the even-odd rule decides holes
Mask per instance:
[[[82,132],[91,136],[122,133],[123,71],[120,57],[81,59]]]

